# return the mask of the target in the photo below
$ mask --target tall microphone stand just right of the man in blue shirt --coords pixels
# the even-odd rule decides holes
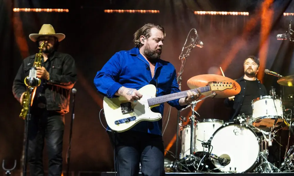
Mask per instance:
[[[192,30],[194,30],[194,32],[196,34],[196,39],[192,38],[190,45],[185,47],[185,45],[187,43],[187,40],[188,40],[188,37],[189,37]],[[198,34],[197,34],[196,29],[194,29],[194,28],[191,29],[189,31],[189,33],[188,33],[188,36],[187,36],[186,41],[184,43],[184,46],[182,48],[182,52],[181,52],[181,54],[179,56],[179,59],[182,61],[181,69],[178,72],[178,77],[177,77],[177,82],[178,82],[180,91],[181,91],[181,86],[182,86],[182,74],[183,74],[183,71],[184,71],[184,66],[185,66],[185,63],[187,61],[188,56],[190,55],[190,52],[191,52],[192,48],[194,48],[196,46],[195,43],[197,41],[197,38],[198,38]],[[202,43],[202,45],[203,45],[203,43]],[[184,48],[188,48],[186,54],[183,54]],[[182,123],[180,123],[180,112],[181,111],[178,111],[178,116],[177,116],[176,152],[175,152],[175,162],[173,163],[173,168],[174,168],[175,171],[176,171],[176,163],[178,161],[178,143],[179,143],[179,130],[180,130],[179,128],[181,128],[181,126],[182,126]]]

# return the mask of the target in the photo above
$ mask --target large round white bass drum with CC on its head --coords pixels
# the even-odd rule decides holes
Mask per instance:
[[[248,172],[258,162],[260,146],[255,132],[243,123],[225,123],[209,139],[211,156],[224,158],[222,162],[212,159],[221,172]]]

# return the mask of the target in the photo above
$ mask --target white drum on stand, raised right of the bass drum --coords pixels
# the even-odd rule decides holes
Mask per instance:
[[[253,126],[258,128],[271,128],[283,123],[283,105],[280,99],[272,96],[260,96],[252,100]]]

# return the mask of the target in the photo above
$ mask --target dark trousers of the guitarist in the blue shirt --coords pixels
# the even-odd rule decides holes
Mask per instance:
[[[165,175],[162,136],[131,130],[108,132],[108,135],[115,148],[115,169],[118,176],[138,175],[140,162],[142,175]]]

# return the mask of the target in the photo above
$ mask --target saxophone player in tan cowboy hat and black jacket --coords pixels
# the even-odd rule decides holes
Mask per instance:
[[[49,158],[49,176],[62,173],[62,145],[64,134],[64,115],[69,112],[70,92],[77,80],[74,58],[57,51],[59,42],[65,38],[55,33],[53,26],[43,24],[38,34],[29,38],[38,46],[46,42],[42,51],[42,67],[36,67],[41,85],[37,87],[31,106],[31,119],[28,128],[28,163],[31,175],[44,175],[44,140]],[[41,53],[41,51],[40,51]],[[25,58],[13,82],[14,97],[22,104],[26,92],[24,78],[34,66],[35,55]]]

